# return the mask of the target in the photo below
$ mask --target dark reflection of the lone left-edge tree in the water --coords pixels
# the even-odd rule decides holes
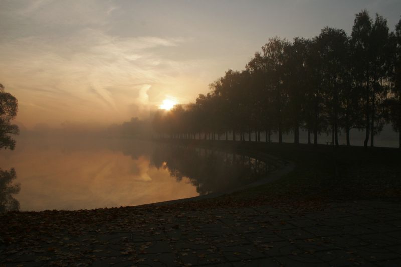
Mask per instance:
[[[0,213],[20,209],[20,202],[13,197],[20,192],[20,184],[12,184],[16,177],[14,168],[10,171],[0,169]]]

